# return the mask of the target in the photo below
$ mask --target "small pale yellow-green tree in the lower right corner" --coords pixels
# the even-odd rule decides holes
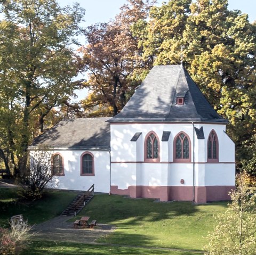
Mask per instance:
[[[256,250],[256,193],[246,184],[247,174],[237,177],[237,190],[231,203],[216,217],[217,225],[207,237],[209,255],[254,255]]]

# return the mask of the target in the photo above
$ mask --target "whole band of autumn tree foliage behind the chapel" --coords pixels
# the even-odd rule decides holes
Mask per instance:
[[[256,173],[256,23],[229,10],[228,0],[154,4],[127,0],[109,22],[82,29],[78,5],[1,2],[0,156],[6,169],[25,169],[33,137],[60,119],[115,116],[153,65],[182,59],[214,109],[229,120],[237,169]],[[81,33],[86,44],[75,51]],[[74,80],[81,71],[86,81]],[[71,103],[84,87],[86,98]]]

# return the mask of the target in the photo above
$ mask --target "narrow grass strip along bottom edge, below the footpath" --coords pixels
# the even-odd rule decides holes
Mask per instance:
[[[63,242],[33,242],[22,255],[198,255],[202,253]]]

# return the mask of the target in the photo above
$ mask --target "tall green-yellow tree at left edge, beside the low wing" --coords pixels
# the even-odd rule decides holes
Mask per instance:
[[[72,80],[81,69],[73,45],[84,10],[55,0],[9,0],[1,7],[0,144],[18,173],[26,168],[35,119],[42,131],[45,116],[81,87]]]

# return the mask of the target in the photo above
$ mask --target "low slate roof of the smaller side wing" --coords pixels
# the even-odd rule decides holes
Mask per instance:
[[[93,150],[110,148],[109,118],[82,118],[60,121],[44,134],[36,137],[33,146],[58,149]]]

